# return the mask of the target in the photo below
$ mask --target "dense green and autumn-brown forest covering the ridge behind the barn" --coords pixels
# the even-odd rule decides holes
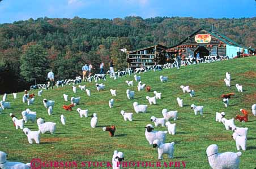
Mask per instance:
[[[35,82],[45,83],[50,69],[56,80],[74,78],[81,74],[82,65],[89,62],[99,72],[100,62],[108,65],[110,58],[116,69],[123,69],[126,60],[120,48],[134,50],[156,43],[170,47],[199,28],[211,29],[212,24],[217,32],[237,43],[256,48],[256,17],[129,16],[113,20],[45,17],[0,24],[0,93],[24,90]],[[29,71],[32,73],[28,74]]]

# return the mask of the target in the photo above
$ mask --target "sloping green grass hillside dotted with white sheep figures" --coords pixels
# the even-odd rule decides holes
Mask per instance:
[[[0,115],[0,147],[8,153],[9,161],[30,162],[32,158],[41,158],[42,161],[110,161],[114,150],[120,150],[125,154],[125,161],[158,161],[157,150],[148,144],[144,135],[144,126],[154,115],[163,117],[161,110],[178,110],[177,134],[167,136],[166,143],[174,141],[175,150],[173,161],[185,161],[186,168],[210,168],[206,157],[206,148],[210,144],[217,144],[219,152],[237,152],[236,143],[231,138],[232,131],[226,131],[224,125],[215,122],[216,112],[225,112],[226,118],[234,118],[240,114],[240,109],[249,110],[249,122],[235,122],[238,127],[249,127],[247,150],[242,152],[240,168],[254,168],[256,155],[256,117],[251,113],[251,105],[256,104],[256,57],[233,59],[211,64],[199,64],[177,69],[165,69],[162,72],[147,72],[140,74],[142,82],[150,85],[152,90],[162,92],[163,99],[157,100],[156,105],[149,105],[146,96],[153,96],[153,92],[136,90],[136,83],[128,87],[126,80],[134,80],[127,75],[116,81],[108,78],[101,81],[106,84],[105,91],[97,92],[95,82],[85,84],[91,90],[92,96],[78,90],[72,92],[71,86],[54,88],[44,91],[42,97],[36,96],[35,104],[29,106],[37,112],[37,118],[57,123],[56,134],[41,135],[41,144],[29,145],[27,136],[21,130],[15,130],[9,113],[14,113],[21,118],[22,110],[28,108],[22,103],[23,93],[18,93],[18,99],[12,95],[7,96],[11,102],[11,109],[4,110]],[[223,79],[225,72],[231,73],[231,88],[225,86]],[[159,76],[169,77],[169,82],[161,83]],[[101,83],[100,82],[100,83]],[[238,93],[235,84],[242,84],[245,91]],[[181,85],[189,85],[195,90],[196,96],[191,98],[189,94],[183,94]],[[117,90],[117,96],[110,95],[110,88]],[[135,99],[127,100],[126,90],[135,91]],[[29,91],[35,93],[37,90]],[[235,92],[236,95],[229,102],[228,108],[224,107],[221,94]],[[81,97],[81,104],[76,108],[88,109],[89,115],[97,113],[98,127],[91,128],[91,118],[80,118],[76,110],[67,112],[62,105],[70,104],[63,100],[63,94]],[[184,99],[184,108],[178,107],[176,97]],[[1,96],[2,98],[2,96]],[[53,115],[49,116],[42,104],[42,99],[55,100]],[[108,101],[114,99],[114,108],[110,109]],[[148,104],[148,113],[136,114],[133,110],[133,102]],[[204,114],[194,115],[190,105],[203,105]],[[133,122],[124,122],[120,111],[134,112]],[[62,126],[59,117],[64,114],[66,126]],[[173,120],[170,121],[174,123]],[[115,125],[116,136],[109,137],[108,132],[102,130],[103,126]],[[152,123],[153,124],[153,123]],[[38,130],[36,123],[27,123],[25,127]],[[155,127],[155,130],[167,130],[165,127]],[[164,155],[165,162],[170,159]]]

